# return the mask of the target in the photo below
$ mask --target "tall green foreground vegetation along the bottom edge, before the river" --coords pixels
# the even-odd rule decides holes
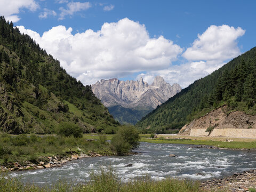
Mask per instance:
[[[155,181],[150,179],[148,175],[142,178],[134,179],[127,183],[122,183],[118,175],[113,169],[101,169],[100,173],[91,173],[91,180],[84,183],[68,183],[59,182],[55,185],[49,186],[37,186],[34,184],[23,184],[17,178],[10,178],[6,174],[0,175],[0,191],[21,191],[21,192],[39,192],[39,191],[91,191],[91,192],[199,192],[203,191],[199,188],[200,183],[182,180],[182,179],[171,179],[167,178],[161,181]]]

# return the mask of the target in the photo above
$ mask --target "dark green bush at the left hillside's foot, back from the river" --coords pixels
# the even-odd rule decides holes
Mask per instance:
[[[83,137],[82,127],[77,126],[74,123],[62,122],[58,127],[57,134],[69,137],[73,135],[75,138]]]

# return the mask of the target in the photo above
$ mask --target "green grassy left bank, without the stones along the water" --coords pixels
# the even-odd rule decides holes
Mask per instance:
[[[0,164],[10,167],[11,163],[18,162],[21,165],[26,161],[38,163],[46,161],[43,157],[59,156],[68,157],[71,154],[99,153],[101,155],[113,154],[113,150],[107,137],[98,136],[98,140],[90,140],[86,137],[74,138],[60,135],[38,136],[0,134]]]

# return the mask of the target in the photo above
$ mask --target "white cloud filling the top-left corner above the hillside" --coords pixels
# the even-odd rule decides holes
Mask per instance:
[[[20,10],[26,8],[30,11],[37,10],[39,5],[34,0],[1,0],[0,13],[6,20],[18,22]]]

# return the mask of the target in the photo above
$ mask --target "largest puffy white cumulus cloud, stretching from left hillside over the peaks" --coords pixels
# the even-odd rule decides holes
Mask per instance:
[[[23,26],[19,29],[84,84],[139,71],[164,70],[182,53],[179,45],[163,36],[150,38],[144,25],[127,18],[106,22],[99,31],[88,29],[75,35],[65,26],[53,27],[42,36]]]

